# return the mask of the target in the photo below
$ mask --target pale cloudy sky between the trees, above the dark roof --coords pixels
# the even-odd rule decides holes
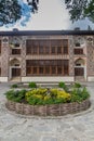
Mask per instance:
[[[25,11],[24,14],[26,13]],[[28,21],[28,18],[25,21]],[[12,30],[13,28],[18,30],[63,30],[76,27],[88,29],[89,25],[94,29],[94,24],[88,20],[78,21],[72,24],[63,0],[40,0],[38,12],[31,14],[26,25],[22,25],[19,21],[13,26],[0,27],[0,30]]]

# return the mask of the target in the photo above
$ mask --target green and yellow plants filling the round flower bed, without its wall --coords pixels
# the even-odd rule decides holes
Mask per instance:
[[[75,84],[70,93],[56,88],[37,88],[29,91],[10,90],[5,93],[5,95],[8,100],[12,100],[14,102],[26,102],[30,105],[82,102],[90,97],[86,88],[83,88],[80,84]]]

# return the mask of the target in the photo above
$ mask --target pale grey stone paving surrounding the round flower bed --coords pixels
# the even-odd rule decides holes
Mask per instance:
[[[63,117],[26,117],[9,112],[0,84],[0,141],[94,141],[94,84],[88,84],[92,106]]]

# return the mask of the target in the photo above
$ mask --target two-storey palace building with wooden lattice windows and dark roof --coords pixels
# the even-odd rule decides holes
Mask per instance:
[[[94,81],[94,31],[0,31],[0,81],[15,78]]]

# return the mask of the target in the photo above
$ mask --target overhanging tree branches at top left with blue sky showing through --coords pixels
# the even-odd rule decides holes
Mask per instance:
[[[30,13],[38,11],[39,0],[0,0],[0,26],[14,24],[23,16],[26,17],[21,24],[25,25],[30,17]]]

